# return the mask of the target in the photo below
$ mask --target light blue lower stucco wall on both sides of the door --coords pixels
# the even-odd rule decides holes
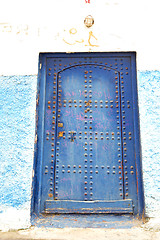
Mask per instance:
[[[30,226],[37,76],[0,77],[0,229]],[[160,72],[138,72],[146,210],[160,213]]]

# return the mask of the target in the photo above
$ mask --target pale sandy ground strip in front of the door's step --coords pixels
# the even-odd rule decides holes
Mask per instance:
[[[104,228],[35,228],[26,230],[0,232],[1,239],[52,239],[52,240],[159,240],[160,219],[131,229]]]

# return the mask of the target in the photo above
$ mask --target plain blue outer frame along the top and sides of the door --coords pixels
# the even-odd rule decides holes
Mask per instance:
[[[136,79],[136,52],[93,52],[93,53],[40,53],[38,66],[37,97],[36,97],[36,131],[35,131],[35,148],[34,164],[32,174],[32,197],[31,197],[31,214],[42,213],[42,162],[43,162],[43,144],[44,144],[44,113],[45,113],[45,96],[46,96],[46,62],[47,58],[77,58],[77,57],[96,57],[96,58],[130,58],[131,66],[131,85],[132,98],[134,103],[133,122],[134,122],[134,149],[135,165],[137,178],[137,208],[134,215],[142,216],[144,214],[144,190],[142,178],[142,158],[140,145],[140,125],[138,110],[138,93]],[[133,203],[134,205],[135,203]],[[116,209],[116,208],[115,208]],[[114,211],[113,211],[114,212]],[[115,211],[116,213],[116,211]]]

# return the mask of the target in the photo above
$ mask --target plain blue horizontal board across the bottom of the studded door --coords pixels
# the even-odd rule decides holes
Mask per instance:
[[[44,213],[133,213],[132,200],[47,200]]]

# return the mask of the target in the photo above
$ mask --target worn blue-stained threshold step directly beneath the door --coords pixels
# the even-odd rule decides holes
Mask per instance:
[[[31,224],[45,228],[110,228],[124,229],[143,224],[131,214],[41,214],[32,215]]]

